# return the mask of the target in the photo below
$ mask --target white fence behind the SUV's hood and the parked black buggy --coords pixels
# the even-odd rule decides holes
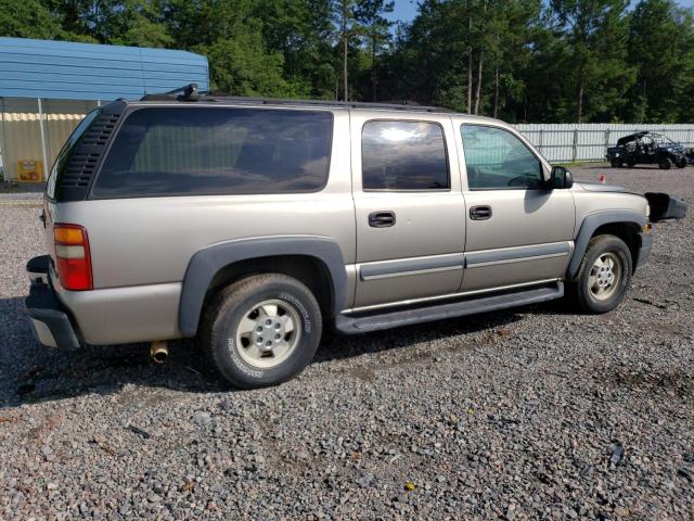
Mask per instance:
[[[694,147],[694,125],[545,124],[516,125],[552,163],[605,161],[607,147],[624,136],[651,130],[684,147]]]

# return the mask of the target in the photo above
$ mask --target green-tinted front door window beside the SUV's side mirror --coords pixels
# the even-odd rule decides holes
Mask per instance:
[[[536,188],[542,185],[540,161],[502,128],[463,125],[463,149],[471,189]]]

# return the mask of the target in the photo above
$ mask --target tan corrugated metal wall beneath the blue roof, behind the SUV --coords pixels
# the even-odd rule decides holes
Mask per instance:
[[[43,100],[48,171],[73,129],[95,101]],[[0,152],[5,179],[17,178],[17,161],[43,162],[37,100],[0,99]]]

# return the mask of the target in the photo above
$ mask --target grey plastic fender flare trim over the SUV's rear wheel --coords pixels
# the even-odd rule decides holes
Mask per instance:
[[[339,313],[347,301],[347,272],[336,242],[320,236],[279,236],[222,242],[196,252],[191,258],[181,290],[179,329],[183,336],[197,332],[205,294],[220,269],[252,258],[300,255],[325,265],[333,290],[332,310]]]

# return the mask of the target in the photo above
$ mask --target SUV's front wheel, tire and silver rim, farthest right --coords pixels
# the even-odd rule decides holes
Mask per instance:
[[[577,304],[589,314],[612,312],[625,298],[632,266],[631,252],[621,239],[592,238],[573,284]]]

